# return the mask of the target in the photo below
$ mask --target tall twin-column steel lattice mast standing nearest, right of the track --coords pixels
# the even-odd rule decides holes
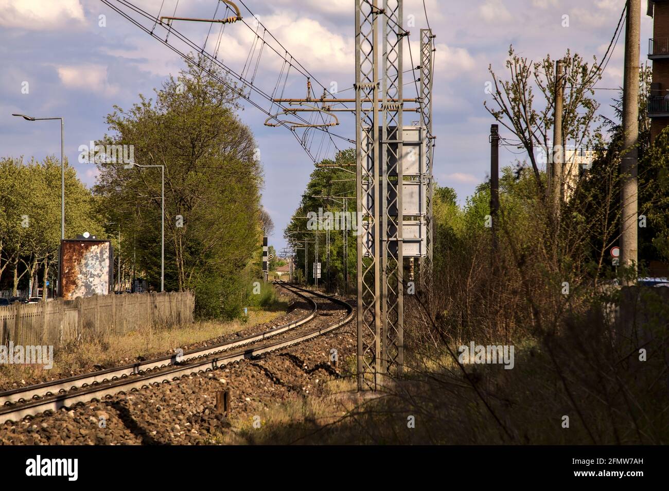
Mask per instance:
[[[382,375],[399,374],[403,365],[402,4],[384,0],[381,10],[376,0],[360,0],[355,11],[357,210],[364,220],[357,239],[359,389],[377,389]]]

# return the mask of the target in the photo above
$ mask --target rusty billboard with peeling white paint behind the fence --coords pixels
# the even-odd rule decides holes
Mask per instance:
[[[58,294],[66,300],[107,295],[114,284],[114,250],[109,240],[61,240]]]

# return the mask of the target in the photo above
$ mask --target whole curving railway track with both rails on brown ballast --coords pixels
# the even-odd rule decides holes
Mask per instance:
[[[353,307],[345,301],[288,283],[277,283],[284,289],[308,301],[312,305],[310,313],[297,321],[268,329],[262,333],[227,343],[193,349],[187,353],[183,353],[183,357],[179,357],[179,360],[177,360],[177,355],[161,357],[122,367],[114,367],[0,392],[0,403],[3,404],[0,406],[0,424],[9,420],[18,421],[25,418],[25,416],[45,411],[57,411],[62,407],[70,407],[76,403],[87,402],[93,399],[102,399],[102,397],[116,395],[124,391],[141,389],[149,385],[177,380],[192,373],[217,369],[228,363],[256,357],[270,351],[302,343],[303,341],[337,329],[337,327],[341,327],[353,319]],[[298,335],[273,340],[269,343],[262,343],[262,345],[256,347],[244,348],[245,345],[259,343],[260,341],[276,337],[281,333],[286,333],[316,319],[318,305],[313,298],[308,297],[306,294],[327,299],[332,303],[341,305],[347,311],[347,315],[336,323],[306,329]]]

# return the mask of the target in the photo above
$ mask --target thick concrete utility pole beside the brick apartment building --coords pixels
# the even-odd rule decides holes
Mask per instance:
[[[638,263],[638,140],[639,140],[639,37],[641,0],[628,0],[625,28],[625,77],[623,86],[623,157],[620,164],[621,266],[636,268]]]

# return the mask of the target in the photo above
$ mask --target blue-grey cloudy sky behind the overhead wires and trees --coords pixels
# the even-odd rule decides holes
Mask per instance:
[[[320,82],[328,89],[335,84],[341,97],[355,96],[352,90],[345,90],[352,86],[354,76],[353,0],[244,1],[268,28],[266,39],[270,40],[269,33],[274,35],[282,45],[278,50],[288,51],[302,64],[301,70],[314,77],[317,95],[322,92]],[[161,15],[212,18],[217,0],[133,3],[152,15],[159,13],[162,4]],[[493,121],[482,103],[486,99],[486,81],[490,79],[489,64],[502,71],[510,44],[520,55],[535,60],[547,53],[559,57],[567,49],[586,59],[593,55],[601,58],[624,3],[625,0],[425,0],[429,25],[437,36],[434,172],[438,182],[455,188],[464,200],[487,177],[488,133]],[[643,3],[645,13],[646,2]],[[222,13],[221,7],[217,17]],[[418,33],[426,27],[423,2],[405,0],[404,14],[405,23],[415,25],[407,29],[411,31],[413,65],[417,65]],[[242,15],[254,25],[248,11],[242,9]],[[181,23],[177,28],[199,45],[207,39],[208,51],[213,52],[219,45],[219,58],[237,73],[246,71],[251,77],[256,72],[255,63],[248,62],[254,34],[242,23],[227,25],[223,33],[215,26],[208,37],[208,23]],[[652,19],[644,15],[642,60],[646,59],[651,31]],[[59,155],[58,122],[27,122],[10,115],[18,112],[38,117],[62,116],[66,156],[88,185],[94,184],[96,170],[91,164],[78,162],[78,148],[107,132],[104,119],[114,104],[129,108],[138,101],[138,94],[151,96],[153,88],[161,86],[167,75],[183,67],[179,55],[100,0],[0,0],[0,41],[0,156]],[[170,41],[178,45],[174,36]],[[275,47],[277,41],[272,41]],[[405,69],[409,69],[407,49],[405,53]],[[622,85],[622,59],[621,42],[598,88]],[[271,93],[281,70],[282,57],[266,49],[254,84]],[[304,97],[304,80],[297,70],[292,71],[284,96]],[[412,80],[411,73],[406,73],[405,83],[409,83],[405,98],[415,95]],[[611,90],[597,91],[602,112],[608,111],[614,95]],[[260,98],[256,100],[262,103]],[[264,126],[266,115],[258,109],[247,105],[240,117],[258,141],[266,176],[263,202],[276,225],[270,244],[280,248],[284,245],[282,229],[300,200],[313,164],[290,132]],[[340,119],[341,126],[334,132],[355,138],[353,116],[342,114]],[[502,132],[502,136],[510,135]],[[314,149],[318,148],[318,138],[314,135]],[[340,148],[347,147],[344,140],[335,138],[334,142]],[[325,150],[326,146],[321,152]],[[517,151],[504,148],[502,165],[519,157],[510,150]]]

